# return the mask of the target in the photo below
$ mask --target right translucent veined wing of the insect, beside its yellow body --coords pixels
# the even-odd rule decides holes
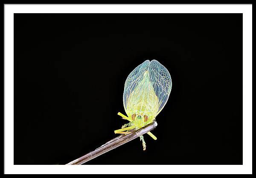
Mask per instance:
[[[158,99],[157,116],[169,98],[172,89],[172,79],[169,71],[156,60],[152,60],[149,63],[148,71],[150,73],[151,85]]]

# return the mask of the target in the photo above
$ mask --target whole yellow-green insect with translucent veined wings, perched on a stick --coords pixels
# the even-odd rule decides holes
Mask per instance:
[[[146,60],[135,68],[125,81],[123,104],[125,116],[118,113],[123,119],[129,121],[115,133],[128,134],[129,130],[139,129],[155,121],[156,116],[165,106],[172,89],[172,79],[169,71],[156,60]],[[154,140],[157,139],[151,132],[147,133]],[[146,143],[140,136],[143,150]]]

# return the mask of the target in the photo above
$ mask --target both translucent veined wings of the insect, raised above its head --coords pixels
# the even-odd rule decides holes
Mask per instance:
[[[146,114],[153,119],[166,104],[171,88],[171,76],[167,69],[156,60],[146,60],[125,81],[125,112],[128,116]]]

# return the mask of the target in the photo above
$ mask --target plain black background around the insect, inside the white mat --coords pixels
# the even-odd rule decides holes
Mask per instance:
[[[15,164],[66,164],[114,138],[125,79],[172,76],[145,135],[85,164],[242,164],[242,14],[15,14]]]

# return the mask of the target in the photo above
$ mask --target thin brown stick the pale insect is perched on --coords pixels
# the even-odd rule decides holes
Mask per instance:
[[[134,130],[132,133],[129,133],[127,135],[120,135],[120,136],[112,139],[111,141],[108,141],[106,144],[102,145],[101,147],[97,148],[96,150],[94,150],[94,151],[74,160],[74,161],[71,161],[68,164],[72,164],[72,165],[83,164],[93,158],[96,158],[99,155],[107,153],[108,151],[121,146],[122,144],[127,143],[128,141],[133,140],[134,138],[142,136],[143,134],[153,130],[156,127],[157,127],[157,122],[154,121],[154,122],[146,125],[145,127],[142,127],[138,130]]]

